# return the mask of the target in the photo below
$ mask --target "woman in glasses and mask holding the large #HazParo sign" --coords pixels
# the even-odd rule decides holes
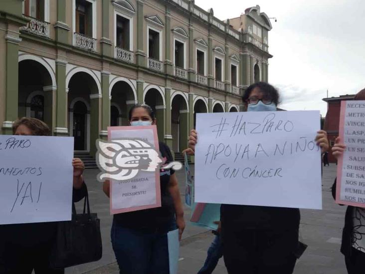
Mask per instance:
[[[250,85],[242,97],[247,111],[276,111],[278,91],[270,84]],[[190,155],[195,151],[197,133],[189,136]],[[327,134],[316,137],[322,152],[328,149]],[[222,205],[221,240],[229,274],[292,274],[299,249],[299,209]]]

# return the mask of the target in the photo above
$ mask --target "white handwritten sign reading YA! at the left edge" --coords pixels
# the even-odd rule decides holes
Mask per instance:
[[[71,220],[73,137],[0,135],[0,224]]]

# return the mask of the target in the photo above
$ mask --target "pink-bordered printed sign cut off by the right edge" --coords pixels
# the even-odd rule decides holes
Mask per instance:
[[[342,101],[336,203],[365,208],[365,101]]]

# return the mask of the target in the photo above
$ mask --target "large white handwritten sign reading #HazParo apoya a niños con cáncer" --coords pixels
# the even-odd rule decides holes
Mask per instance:
[[[198,113],[195,202],[322,209],[319,111]]]

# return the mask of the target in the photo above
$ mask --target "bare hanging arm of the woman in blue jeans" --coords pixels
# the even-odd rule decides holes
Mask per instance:
[[[178,178],[176,177],[176,174],[170,176],[169,192],[174,201],[176,223],[179,228],[179,241],[180,241],[183,235],[183,231],[185,229],[185,221],[184,221],[183,204],[181,202]]]

